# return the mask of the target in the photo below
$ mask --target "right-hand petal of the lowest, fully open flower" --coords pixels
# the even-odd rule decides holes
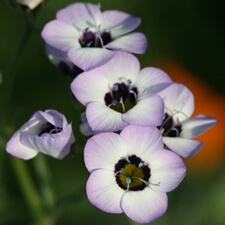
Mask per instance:
[[[151,169],[150,187],[157,192],[175,189],[186,175],[183,160],[174,152],[163,150],[149,163]]]

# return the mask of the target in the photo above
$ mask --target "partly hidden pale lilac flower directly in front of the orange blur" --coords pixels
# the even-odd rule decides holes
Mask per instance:
[[[201,150],[203,143],[193,140],[217,123],[213,117],[199,114],[191,119],[194,96],[183,84],[173,83],[159,93],[164,100],[165,115],[159,127],[164,144],[184,158],[190,158]]]

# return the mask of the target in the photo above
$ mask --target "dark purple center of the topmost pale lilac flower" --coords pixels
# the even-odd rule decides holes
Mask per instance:
[[[107,45],[112,41],[110,32],[104,31],[100,34],[94,33],[86,29],[83,32],[83,35],[79,38],[79,43],[82,48],[85,47],[95,47],[102,48],[104,45]]]

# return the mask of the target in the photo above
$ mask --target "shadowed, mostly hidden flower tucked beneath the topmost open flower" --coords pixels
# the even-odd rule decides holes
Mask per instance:
[[[45,45],[45,51],[49,60],[64,74],[76,77],[78,74],[82,73],[83,70],[75,66],[67,56],[65,51],[61,51],[54,48],[48,44]]]

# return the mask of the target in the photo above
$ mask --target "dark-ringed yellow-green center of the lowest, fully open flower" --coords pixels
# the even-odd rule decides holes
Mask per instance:
[[[128,156],[115,165],[116,182],[124,190],[140,191],[148,186],[151,170],[136,155]]]

